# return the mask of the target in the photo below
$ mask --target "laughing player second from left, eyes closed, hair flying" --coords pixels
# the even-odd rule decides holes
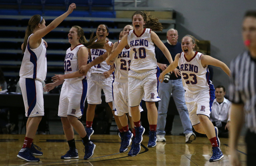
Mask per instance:
[[[82,138],[85,146],[84,160],[88,160],[94,153],[95,146],[89,141],[84,125],[78,120],[84,113],[84,102],[87,96],[87,80],[79,72],[79,67],[86,65],[88,60],[87,48],[102,48],[103,42],[94,42],[96,38],[86,41],[84,31],[79,26],[72,26],[68,33],[68,42],[71,47],[67,49],[64,61],[64,75],[52,77],[53,83],[46,84],[44,90],[49,92],[55,86],[63,84],[60,93],[58,116],[61,117],[63,130],[70,149],[61,156],[61,159],[78,158],[74,139],[74,129]],[[86,48],[86,47],[87,48]]]

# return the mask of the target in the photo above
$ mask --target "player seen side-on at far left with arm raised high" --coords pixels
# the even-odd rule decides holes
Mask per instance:
[[[44,18],[40,15],[34,15],[28,21],[24,43],[22,44],[24,57],[20,67],[19,81],[28,121],[24,144],[17,157],[29,162],[40,161],[34,155],[42,155],[42,152],[36,150],[32,144],[38,124],[44,116],[41,81],[46,78],[47,63],[46,45],[42,37],[56,28],[75,8],[76,4],[72,3],[67,12],[53,20],[47,27]]]

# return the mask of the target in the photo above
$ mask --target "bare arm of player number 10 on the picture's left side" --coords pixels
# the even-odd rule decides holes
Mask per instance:
[[[110,53],[110,55],[106,59],[107,64],[109,64],[109,65],[114,64],[114,62],[110,63],[110,61],[112,61],[119,53],[121,53],[122,50],[124,49],[124,47],[128,44],[127,38],[128,38],[127,34],[124,35],[124,37],[122,37],[122,39],[121,39],[120,43],[118,44],[118,46],[116,47],[116,49],[114,49],[112,51],[112,53]]]

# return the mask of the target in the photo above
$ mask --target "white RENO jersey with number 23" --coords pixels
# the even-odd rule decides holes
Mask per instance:
[[[201,63],[202,53],[195,52],[195,55],[188,61],[184,52],[180,54],[178,66],[182,75],[182,84],[184,89],[190,94],[197,94],[202,90],[210,90],[212,81],[210,80],[210,72],[208,66],[205,68]]]

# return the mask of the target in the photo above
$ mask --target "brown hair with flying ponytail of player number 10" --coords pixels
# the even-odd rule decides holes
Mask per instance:
[[[143,26],[144,28],[150,28],[153,31],[162,31],[164,29],[164,26],[162,25],[162,23],[159,22],[158,18],[156,18],[155,16],[151,16],[150,12],[145,13],[142,11],[136,11],[132,15],[132,19],[133,16],[136,14],[140,14],[143,17],[143,20],[146,22]]]

